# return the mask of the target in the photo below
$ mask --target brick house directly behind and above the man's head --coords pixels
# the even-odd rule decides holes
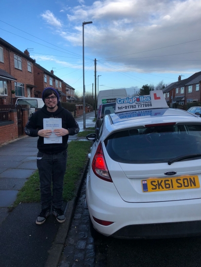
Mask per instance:
[[[34,84],[37,85],[37,90],[34,92],[35,97],[41,98],[44,88],[54,87],[58,90],[60,101],[66,102],[66,91],[62,82],[63,80],[55,76],[53,70],[48,71],[34,62]]]

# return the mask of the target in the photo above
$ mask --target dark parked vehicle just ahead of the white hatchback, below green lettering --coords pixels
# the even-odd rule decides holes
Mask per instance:
[[[96,123],[95,123],[95,133],[99,133],[99,129],[101,126],[101,123],[103,121],[103,118],[107,114],[112,114],[114,113],[116,103],[111,102],[107,104],[100,104],[97,112],[97,117],[96,117]]]

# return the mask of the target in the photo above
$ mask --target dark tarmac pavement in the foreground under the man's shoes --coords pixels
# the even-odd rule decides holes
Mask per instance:
[[[66,205],[66,203],[65,203]],[[0,267],[44,267],[60,223],[50,215],[36,224],[39,203],[21,203],[0,227]]]

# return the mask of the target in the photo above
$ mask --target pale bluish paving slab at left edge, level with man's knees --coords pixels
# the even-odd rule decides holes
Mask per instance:
[[[28,178],[36,169],[6,169],[0,173],[0,178]]]

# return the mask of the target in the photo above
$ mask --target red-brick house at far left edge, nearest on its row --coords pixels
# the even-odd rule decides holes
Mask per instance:
[[[0,104],[15,104],[18,97],[33,97],[34,59],[0,38]],[[15,93],[14,93],[15,91]]]

